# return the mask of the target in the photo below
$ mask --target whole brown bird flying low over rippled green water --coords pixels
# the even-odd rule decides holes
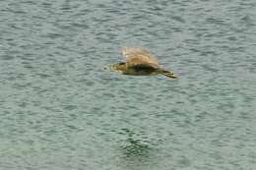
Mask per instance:
[[[151,76],[163,75],[168,78],[177,79],[172,72],[162,69],[158,59],[150,51],[140,47],[122,47],[122,55],[126,62],[110,65],[111,71],[121,72],[123,75],[131,76]]]

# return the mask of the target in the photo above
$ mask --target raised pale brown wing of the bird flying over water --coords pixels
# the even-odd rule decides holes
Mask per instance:
[[[129,66],[148,64],[158,67],[158,59],[149,51],[137,47],[123,47],[122,54],[126,58]]]

